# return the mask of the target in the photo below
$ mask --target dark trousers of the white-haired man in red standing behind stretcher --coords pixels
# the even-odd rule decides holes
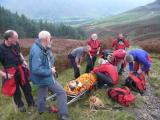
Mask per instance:
[[[86,66],[86,73],[89,73],[90,71],[93,70],[95,62],[96,62],[97,57],[93,56],[92,59],[90,58],[89,55],[87,55],[87,66]]]

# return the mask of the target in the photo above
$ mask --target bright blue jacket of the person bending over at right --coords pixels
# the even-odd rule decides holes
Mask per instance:
[[[135,62],[138,62],[142,65],[142,71],[148,71],[151,67],[151,62],[148,60],[149,54],[142,49],[134,49],[129,52],[134,58]],[[133,62],[129,63],[129,70],[133,71],[134,64]]]

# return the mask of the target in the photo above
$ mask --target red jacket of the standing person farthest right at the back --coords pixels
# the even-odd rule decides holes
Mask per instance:
[[[129,42],[123,38],[123,44],[118,43],[118,38],[114,39],[112,42],[112,47],[114,48],[114,50],[118,50],[118,49],[125,49],[126,47],[129,47]]]

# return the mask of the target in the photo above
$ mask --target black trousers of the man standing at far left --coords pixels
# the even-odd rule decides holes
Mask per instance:
[[[27,81],[27,83],[25,85],[22,85],[20,82],[20,74],[16,73],[15,75],[15,79],[16,79],[16,91],[14,93],[14,102],[17,105],[17,107],[22,107],[24,106],[24,103],[22,101],[22,95],[21,95],[21,90],[20,87],[24,93],[25,99],[27,101],[28,106],[34,106],[35,102],[32,96],[32,89],[31,89],[31,85],[29,83],[29,81]]]

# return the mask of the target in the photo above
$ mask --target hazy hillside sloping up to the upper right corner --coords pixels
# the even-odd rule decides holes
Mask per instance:
[[[160,36],[160,0],[146,6],[137,7],[125,13],[97,21],[84,28],[98,32],[102,39],[127,33],[130,39],[144,39]]]

